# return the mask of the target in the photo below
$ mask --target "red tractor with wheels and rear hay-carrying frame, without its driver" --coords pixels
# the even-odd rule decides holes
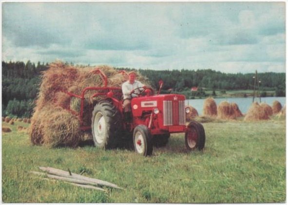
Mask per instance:
[[[125,121],[123,115],[123,95],[121,88],[109,87],[107,77],[101,70],[92,71],[100,75],[102,87],[87,87],[81,95],[65,92],[71,97],[81,99],[78,115],[81,130],[92,130],[96,147],[111,149],[117,146],[122,136],[133,136],[134,149],[144,156],[151,155],[153,146],[165,146],[171,133],[185,132],[185,145],[190,150],[203,149],[205,145],[205,131],[203,126],[195,121],[186,125],[185,96],[180,94],[154,94],[153,89],[141,90],[138,97],[131,101],[132,120]],[[125,71],[121,71],[127,75]],[[160,86],[160,89],[162,84]],[[136,90],[136,89],[135,89]],[[92,98],[98,100],[92,112],[91,126],[83,122],[85,93],[95,92]],[[160,90],[159,90],[160,91]]]

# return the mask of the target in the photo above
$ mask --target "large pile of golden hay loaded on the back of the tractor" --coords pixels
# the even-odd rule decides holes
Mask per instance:
[[[66,110],[71,108],[78,112],[80,99],[77,97],[70,98],[64,92],[81,95],[86,87],[103,87],[104,84],[100,75],[91,72],[96,68],[107,76],[107,86],[109,87],[121,88],[122,83],[127,80],[125,76],[109,66],[75,67],[60,61],[51,63],[49,69],[43,72],[29,129],[32,144],[48,147],[77,147],[81,140],[92,139],[91,134],[87,135],[80,130],[77,116]],[[143,84],[149,85],[147,78],[138,75],[137,79]],[[84,114],[84,126],[91,126],[92,110],[97,100],[101,99],[99,97],[92,99],[94,94],[95,91],[88,91],[84,96],[84,113],[89,113]]]

